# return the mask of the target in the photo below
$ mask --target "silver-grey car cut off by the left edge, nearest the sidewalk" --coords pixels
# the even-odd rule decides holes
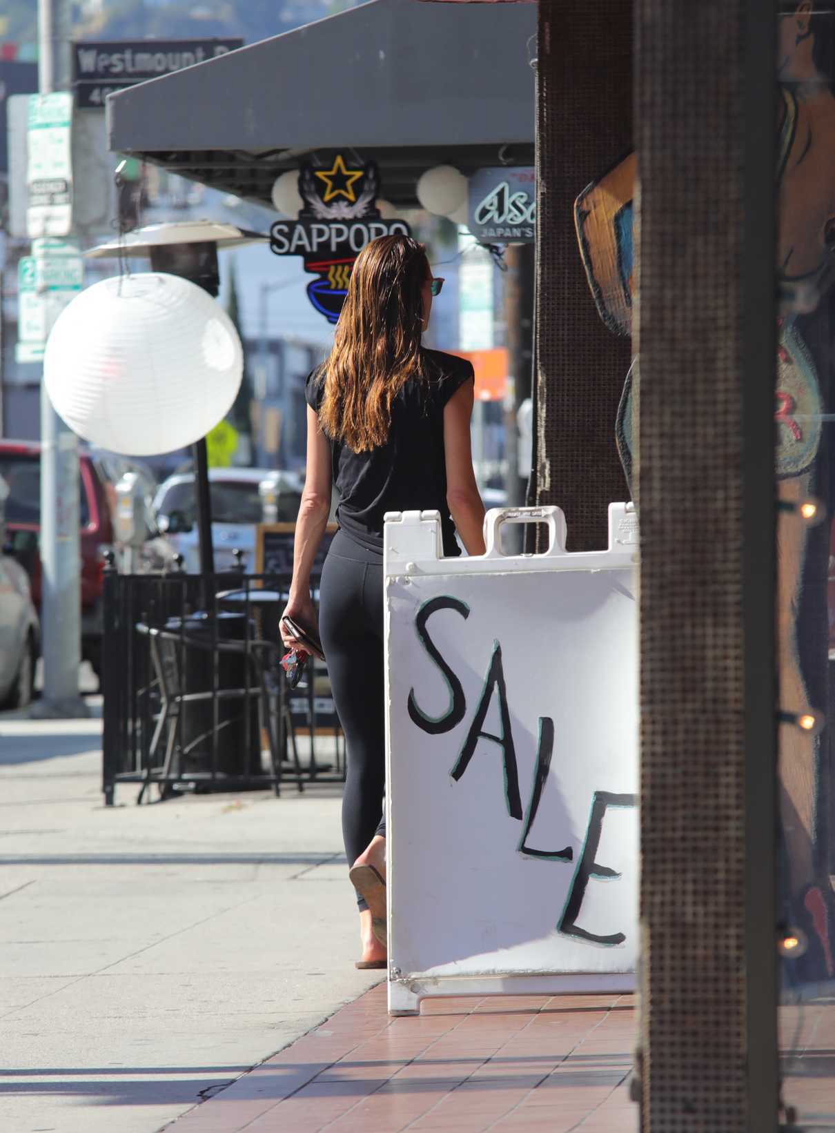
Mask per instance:
[[[0,477],[0,546],[6,545],[8,495]],[[28,576],[16,559],[0,553],[0,708],[25,708],[32,700],[40,638]]]

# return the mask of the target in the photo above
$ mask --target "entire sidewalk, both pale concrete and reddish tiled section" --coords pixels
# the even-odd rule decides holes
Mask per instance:
[[[0,715],[2,1133],[634,1133],[632,997],[390,1019],[339,789],[105,808],[100,729]],[[835,1133],[835,999],[781,1016],[786,1102]]]

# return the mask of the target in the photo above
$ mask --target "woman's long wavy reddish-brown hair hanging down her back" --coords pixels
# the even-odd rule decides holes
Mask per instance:
[[[322,428],[353,452],[385,444],[392,402],[423,376],[421,289],[426,248],[408,236],[381,236],[357,256],[324,366]]]

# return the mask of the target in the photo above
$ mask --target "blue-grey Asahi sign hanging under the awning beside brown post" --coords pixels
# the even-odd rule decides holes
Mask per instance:
[[[530,244],[536,236],[536,172],[479,169],[470,178],[469,229],[483,244]]]

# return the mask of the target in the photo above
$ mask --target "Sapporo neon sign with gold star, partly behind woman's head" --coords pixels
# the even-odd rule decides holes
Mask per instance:
[[[307,298],[329,323],[335,323],[348,293],[353,262],[380,236],[410,235],[402,220],[383,220],[376,205],[380,174],[373,162],[349,167],[338,154],[330,169],[303,165],[296,220],[278,220],[270,229],[276,256],[303,256],[305,271],[316,279]]]

